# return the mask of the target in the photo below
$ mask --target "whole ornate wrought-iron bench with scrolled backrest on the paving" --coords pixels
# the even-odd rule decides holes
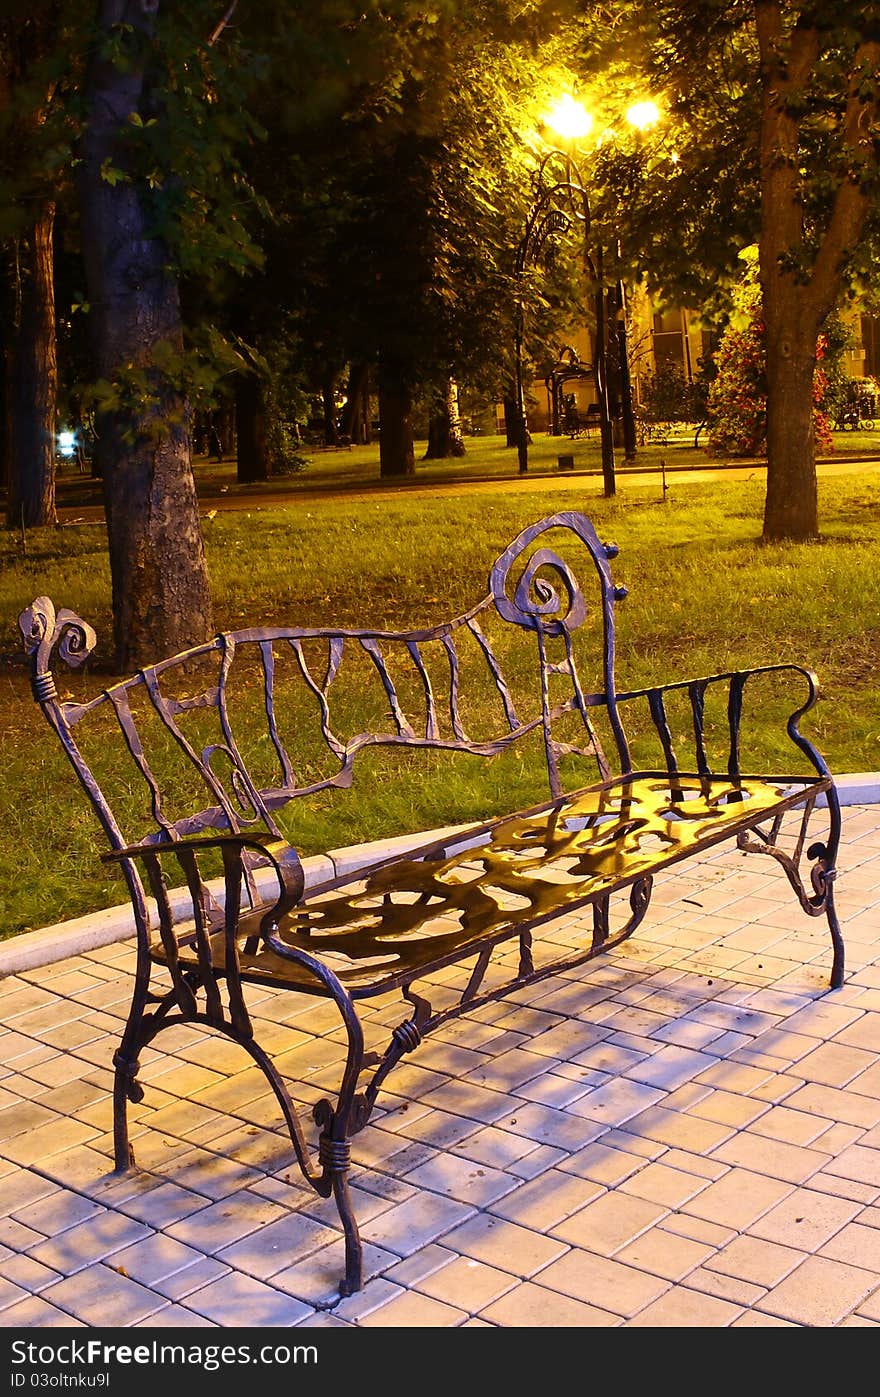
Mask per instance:
[[[341,1291],[352,1294],[362,1285],[362,1246],[351,1141],[391,1069],[447,1020],[545,977],[571,975],[617,946],[644,918],[658,870],[724,840],[772,856],[803,911],[827,918],[831,986],[842,983],[833,895],[839,803],[824,760],[799,732],[817,697],[814,676],[770,665],[617,693],[613,609],[626,590],[612,580],[616,552],[582,514],[555,514],[520,534],[494,563],[487,595],[447,624],[230,631],[80,701],[59,697],[50,659],[57,648],[81,664],[95,633],[45,597],[22,613],[34,696],[92,802],[110,845],[105,858],[119,865],[134,908],[134,996],[115,1056],[119,1169],[134,1164],[126,1106],[142,1098],[140,1052],[175,1024],[229,1035],[265,1073],[305,1179],[335,1197],[345,1235]],[[588,609],[578,576],[594,569],[598,604]],[[587,687],[581,650],[591,634],[599,678]],[[486,692],[472,704],[481,676]],[[742,756],[745,705],[757,686],[775,693],[781,680],[793,680],[798,696],[788,694],[785,707],[774,698],[768,711],[779,715],[802,770],[754,774]],[[524,809],[306,886],[285,819],[306,809],[303,796],[320,805],[351,785],[355,759],[369,767],[381,756],[376,782],[391,766],[418,788],[430,781],[425,760],[464,760],[469,781],[490,766],[476,759],[521,763],[529,740],[549,799],[545,787],[543,799],[518,802]],[[422,761],[418,774],[409,760]],[[524,770],[517,766],[514,780]],[[133,842],[120,810],[135,819],[138,785],[144,823]],[[807,842],[814,816],[827,833]],[[332,812],[328,819],[332,827]],[[177,883],[187,890],[184,911],[168,891]],[[582,940],[571,928],[555,939],[562,915],[588,908],[575,923]],[[254,1035],[246,986],[337,1006],[345,1063],[335,1099],[318,1101],[313,1126]],[[394,1013],[365,1013],[376,996],[398,1006],[391,1032],[383,1025]]]

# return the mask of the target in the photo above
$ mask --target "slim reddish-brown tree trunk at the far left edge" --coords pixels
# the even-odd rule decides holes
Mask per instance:
[[[54,204],[18,239],[15,319],[11,335],[10,528],[56,524],[54,447],[57,359],[54,339]]]

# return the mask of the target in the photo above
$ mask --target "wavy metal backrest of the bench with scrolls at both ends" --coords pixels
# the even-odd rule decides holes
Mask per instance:
[[[580,577],[570,560],[571,549],[564,549],[563,557],[543,539],[552,529],[557,531],[557,541],[575,545],[580,574],[595,569],[599,597],[592,620],[601,624],[602,634],[598,692],[584,689],[573,645],[574,633],[588,615]],[[559,763],[566,753],[591,759],[592,774],[578,784],[605,780],[612,767],[629,770],[613,680],[613,604],[626,595],[624,588],[615,588],[608,566],[616,552],[615,545],[599,542],[585,515],[574,511],[549,515],[525,528],[501,553],[492,569],[487,595],[444,624],[409,631],[295,626],[225,631],[80,703],[59,697],[50,665],[56,650],[67,664],[82,664],[95,645],[92,627],[73,612],[56,610],[45,597],[22,613],[20,626],[32,657],[34,696],[59,735],[113,849],[210,830],[278,835],[275,812],[281,806],[349,785],[355,759],[377,746],[492,756],[527,733],[539,732],[552,796],[562,791]],[[499,617],[529,637],[531,692],[525,698],[514,693],[515,689],[522,693],[524,685],[508,682],[506,664],[487,634],[487,622],[494,624]],[[483,731],[472,733],[464,689],[478,669],[492,689],[494,707],[481,719]],[[243,679],[237,687],[236,675]],[[313,736],[320,729],[323,766],[310,750],[300,767],[293,752],[298,743],[285,698],[293,682],[311,705]],[[193,685],[194,692],[189,692]],[[247,743],[237,731],[242,694],[250,703]],[[591,711],[598,707],[606,714],[605,743],[610,757],[591,721]],[[254,708],[258,708],[257,736]],[[339,718],[339,712],[345,717]],[[110,722],[105,722],[96,754],[89,756],[81,738],[88,726],[84,719],[99,714]],[[555,733],[564,715],[574,715],[580,729],[574,742],[562,742]],[[130,767],[124,777],[117,757],[102,773],[110,729],[116,740],[123,739]],[[257,752],[258,760],[246,754],[244,746]],[[173,796],[154,756],[165,753],[162,760],[168,764],[169,750],[175,763],[187,768],[187,778],[177,781]],[[126,792],[133,785],[142,787],[147,828],[123,831],[119,800],[108,789],[117,781]]]

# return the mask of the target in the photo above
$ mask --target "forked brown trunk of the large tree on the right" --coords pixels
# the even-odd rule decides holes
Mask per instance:
[[[765,538],[819,532],[816,339],[859,265],[880,189],[880,7],[754,7],[760,275],[767,330]],[[837,24],[830,24],[831,18]]]

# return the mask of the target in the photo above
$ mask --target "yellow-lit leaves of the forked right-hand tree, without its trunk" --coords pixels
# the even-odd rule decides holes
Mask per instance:
[[[594,106],[615,110],[617,94],[616,117],[608,123],[617,138],[606,145],[601,186],[624,254],[634,271],[677,300],[704,309],[718,302],[722,313],[739,251],[761,233],[761,74],[770,81],[770,73],[758,53],[758,8],[778,17],[779,80],[792,45],[807,52],[814,46],[800,85],[779,96],[779,84],[771,82],[795,122],[789,236],[779,265],[806,285],[841,191],[858,186],[867,224],[833,261],[841,289],[872,282],[880,159],[877,141],[865,133],[876,130],[879,88],[876,59],[860,53],[876,35],[872,0],[760,7],[740,0],[615,0],[592,7],[582,53],[584,88]],[[859,112],[848,116],[851,88]],[[662,120],[637,141],[624,140],[620,109],[645,91],[661,103]]]

